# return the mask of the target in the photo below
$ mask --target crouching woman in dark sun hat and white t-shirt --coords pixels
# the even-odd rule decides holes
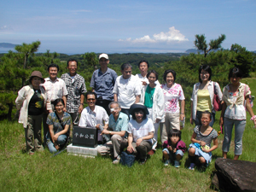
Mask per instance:
[[[132,119],[128,125],[128,147],[130,154],[136,154],[144,164],[147,160],[148,151],[152,148],[152,138],[154,137],[154,124],[147,118],[148,108],[143,103],[131,105],[129,113]]]

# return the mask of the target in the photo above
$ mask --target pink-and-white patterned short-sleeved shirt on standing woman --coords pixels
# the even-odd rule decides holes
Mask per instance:
[[[174,83],[171,88],[162,84],[161,88],[165,96],[165,112],[179,113],[179,100],[184,100],[183,88],[180,84]]]

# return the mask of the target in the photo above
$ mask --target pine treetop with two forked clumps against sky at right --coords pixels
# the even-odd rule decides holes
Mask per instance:
[[[210,50],[221,48],[220,44],[223,43],[225,38],[226,38],[226,36],[224,34],[221,34],[220,36],[218,36],[217,39],[214,39],[214,40],[212,39],[212,40],[210,40],[210,43],[207,44],[205,34],[202,34],[202,35],[197,34],[197,35],[195,35],[194,44],[198,50],[204,51],[204,55],[205,55],[205,57],[207,57],[207,54],[209,53]],[[207,49],[208,45],[209,45],[209,49]]]

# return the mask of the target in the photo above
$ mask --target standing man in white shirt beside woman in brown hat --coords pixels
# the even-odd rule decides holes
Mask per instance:
[[[65,103],[63,111],[67,111],[67,87],[62,79],[57,78],[59,66],[52,63],[47,67],[47,70],[49,72],[49,78],[45,78],[45,82],[42,84],[47,94],[46,110],[48,112],[43,114],[44,145],[46,144],[46,133],[49,131],[49,126],[46,124],[46,119],[48,114],[54,111],[52,102],[54,102],[56,99],[62,98]]]

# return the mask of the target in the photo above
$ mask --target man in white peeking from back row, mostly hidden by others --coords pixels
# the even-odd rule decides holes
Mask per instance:
[[[137,73],[135,76],[137,77],[137,79],[141,81],[140,89],[142,89],[143,85],[149,84],[148,78],[147,78],[149,63],[146,60],[142,60],[142,61],[139,61],[137,67],[139,68],[141,73]],[[158,80],[156,80],[154,83],[157,85],[160,85]]]

